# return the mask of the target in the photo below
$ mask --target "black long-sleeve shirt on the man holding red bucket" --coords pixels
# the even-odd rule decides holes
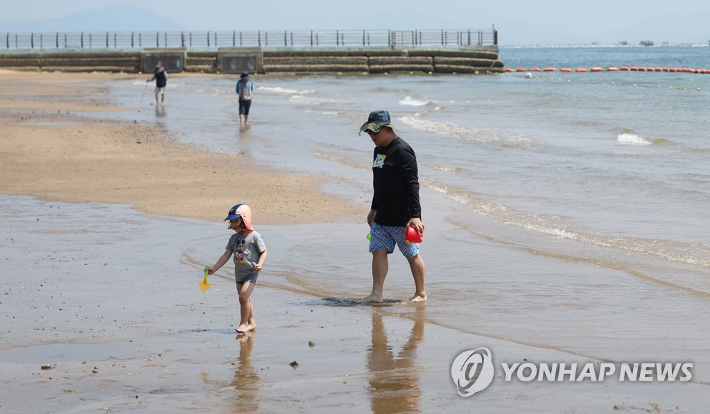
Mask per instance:
[[[375,147],[372,182],[377,224],[405,226],[410,218],[422,217],[417,156],[402,138],[395,138],[388,146]]]

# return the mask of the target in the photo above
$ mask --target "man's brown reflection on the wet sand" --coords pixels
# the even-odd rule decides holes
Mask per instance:
[[[372,312],[372,346],[368,347],[368,371],[373,413],[419,411],[422,392],[417,348],[424,339],[423,310],[417,310],[408,341],[398,354],[388,344],[380,312]]]

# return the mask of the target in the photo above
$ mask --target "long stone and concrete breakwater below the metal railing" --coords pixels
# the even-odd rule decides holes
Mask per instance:
[[[63,72],[168,72],[317,74],[339,72],[501,73],[497,45],[361,48],[144,48],[143,50],[12,51],[0,69]]]

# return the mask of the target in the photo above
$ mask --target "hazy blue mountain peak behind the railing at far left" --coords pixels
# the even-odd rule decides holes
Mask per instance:
[[[110,4],[101,9],[80,11],[60,18],[41,18],[23,23],[0,23],[6,32],[77,31],[182,31],[185,30],[152,11],[125,4]]]

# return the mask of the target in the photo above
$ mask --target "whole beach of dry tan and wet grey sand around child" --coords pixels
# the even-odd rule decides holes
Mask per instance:
[[[706,409],[704,385],[503,381],[497,368],[486,391],[459,396],[450,370],[468,349],[521,363],[581,356],[435,325],[426,303],[354,305],[289,285],[278,258],[362,224],[368,206],[322,192],[334,178],[83,115],[129,110],[111,107],[105,89],[127,76],[0,72],[0,411]],[[205,293],[197,286],[236,202],[271,235],[253,295],[258,328],[241,335],[230,271]],[[363,285],[344,287],[352,295],[370,284],[362,264]]]

